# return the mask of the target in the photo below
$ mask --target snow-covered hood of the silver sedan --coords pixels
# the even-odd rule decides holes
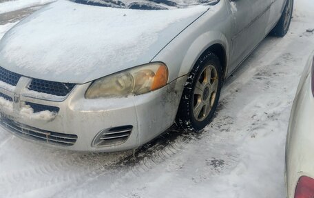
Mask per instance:
[[[27,77],[85,83],[148,63],[208,6],[131,10],[60,0],[0,42],[0,66]]]

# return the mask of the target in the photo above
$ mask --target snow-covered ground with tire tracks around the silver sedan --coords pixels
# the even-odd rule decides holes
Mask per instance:
[[[306,32],[314,28],[313,9],[311,0],[295,1],[289,34],[267,37],[227,80],[200,135],[169,130],[134,155],[83,154],[0,130],[0,197],[284,198],[286,128],[314,50],[314,34]],[[0,37],[14,23],[3,23]]]

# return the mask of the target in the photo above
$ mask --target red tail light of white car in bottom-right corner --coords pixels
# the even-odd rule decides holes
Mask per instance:
[[[314,179],[306,176],[300,177],[295,188],[295,198],[313,198]]]

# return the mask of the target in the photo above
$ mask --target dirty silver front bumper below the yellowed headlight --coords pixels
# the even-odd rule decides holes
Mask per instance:
[[[64,101],[48,101],[21,96],[20,101],[38,103],[44,106],[59,108],[53,117],[30,116],[17,110],[2,106],[2,126],[18,137],[28,141],[43,143],[55,148],[67,150],[112,152],[137,148],[160,135],[169,128],[176,118],[182,89],[187,77],[180,77],[164,88],[144,95],[116,99],[85,99],[85,90],[90,83],[77,85]],[[0,90],[1,92],[1,90]],[[6,94],[6,93],[5,93]],[[3,101],[3,100],[2,100]],[[14,106],[14,102],[12,102]],[[51,116],[51,115],[50,115]],[[6,120],[18,123],[10,128]],[[93,140],[99,132],[120,126],[132,126],[132,132],[126,141],[108,143],[104,146],[94,146]],[[66,135],[76,140],[72,144],[56,144],[52,141],[42,141],[36,137],[23,134],[25,130],[35,130],[41,137]],[[64,138],[64,137],[62,137]]]

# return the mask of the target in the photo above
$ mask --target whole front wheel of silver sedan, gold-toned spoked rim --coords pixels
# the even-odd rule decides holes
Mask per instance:
[[[176,123],[184,130],[205,128],[216,110],[222,88],[218,57],[209,52],[191,70],[183,90]]]

